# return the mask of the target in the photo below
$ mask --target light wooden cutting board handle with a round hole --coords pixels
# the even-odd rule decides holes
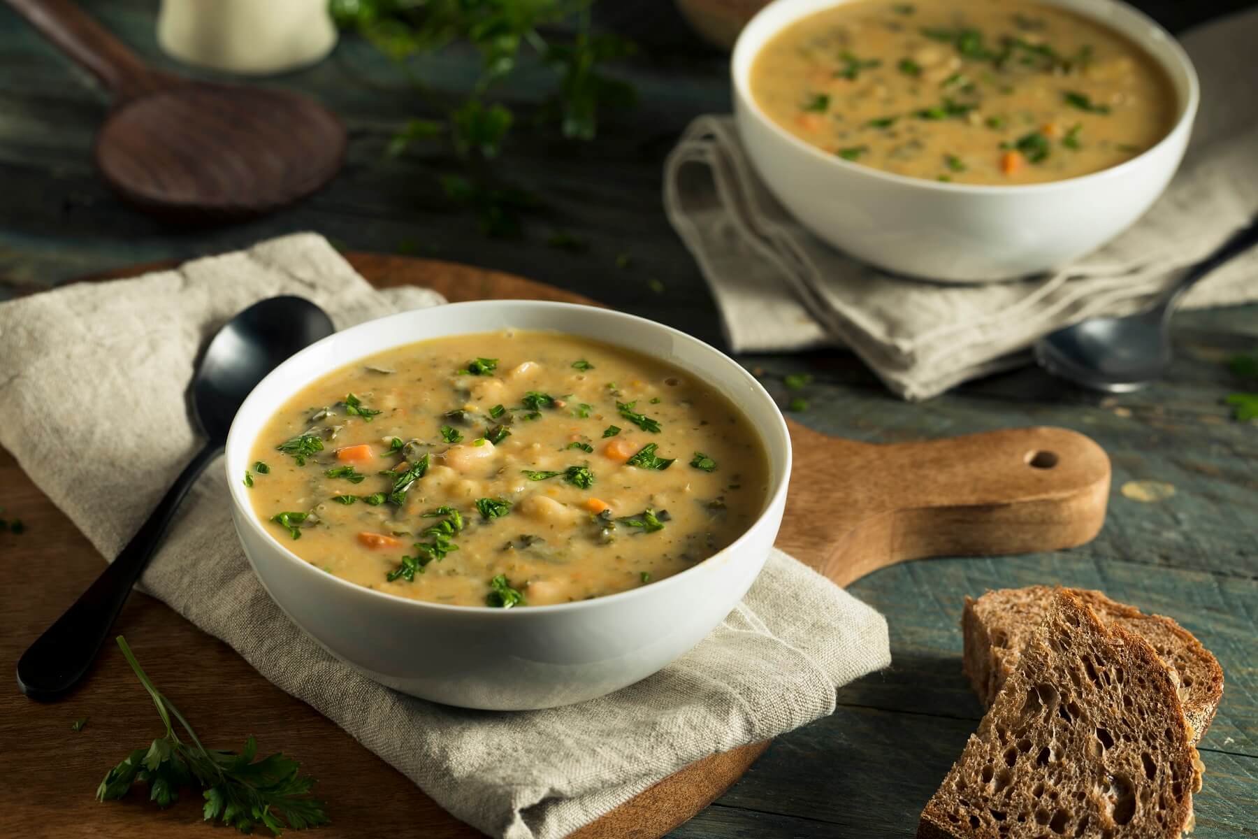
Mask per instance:
[[[1110,458],[1076,431],[879,445],[788,424],[795,467],[777,546],[842,586],[905,560],[1073,547],[1105,522]]]

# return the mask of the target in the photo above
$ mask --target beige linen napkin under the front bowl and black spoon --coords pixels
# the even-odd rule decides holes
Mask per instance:
[[[444,302],[376,292],[301,234],[4,303],[0,444],[112,557],[199,448],[184,396],[199,347],[274,294],[309,298],[340,327]],[[708,638],[618,693],[535,712],[433,704],[364,678],[289,623],[237,545],[225,481],[221,462],[198,481],[145,589],[491,835],[566,835],[689,762],[830,713],[837,686],[891,660],[878,613],[774,551]]]

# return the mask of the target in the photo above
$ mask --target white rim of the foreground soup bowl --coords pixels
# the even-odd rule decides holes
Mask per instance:
[[[254,443],[253,439],[245,440],[243,443],[239,440],[240,435],[243,435],[244,431],[240,430],[240,428],[238,425],[238,420],[239,420],[242,413],[244,413],[244,408],[247,405],[249,405],[252,401],[254,401],[254,400],[265,401],[259,395],[259,391],[262,391],[263,387],[265,387],[268,384],[274,382],[276,380],[279,380],[279,379],[284,377],[284,375],[287,372],[286,369],[292,369],[292,366],[296,366],[296,364],[298,362],[298,360],[302,356],[307,356],[307,355],[314,353],[314,352],[318,351],[320,347],[322,347],[322,346],[325,346],[327,343],[331,343],[332,341],[336,341],[338,338],[343,340],[343,336],[346,336],[346,335],[355,333],[355,332],[357,332],[357,333],[367,333],[371,330],[379,327],[381,323],[387,322],[387,321],[405,321],[405,319],[414,318],[414,317],[425,317],[425,316],[430,316],[430,313],[433,313],[433,312],[449,312],[450,308],[459,308],[459,309],[465,309],[465,308],[467,309],[470,309],[470,308],[493,308],[493,307],[502,306],[502,304],[509,304],[512,307],[522,307],[522,308],[532,308],[532,309],[551,309],[551,311],[560,311],[560,312],[571,312],[571,313],[598,312],[600,316],[606,316],[606,317],[614,317],[614,318],[623,318],[623,319],[633,321],[633,322],[637,322],[637,323],[640,323],[640,325],[645,325],[648,328],[659,330],[663,335],[673,337],[674,340],[682,340],[683,342],[687,342],[687,343],[689,343],[692,346],[698,347],[699,351],[707,351],[707,352],[712,353],[715,357],[717,357],[722,364],[725,364],[728,367],[728,370],[730,370],[731,380],[732,381],[735,381],[735,382],[737,382],[740,385],[747,385],[747,386],[750,386],[750,389],[752,390],[752,392],[755,392],[757,397],[762,399],[764,403],[772,409],[772,411],[770,414],[770,416],[771,416],[771,419],[770,419],[770,426],[769,428],[764,428],[764,429],[761,429],[757,425],[757,423],[751,416],[749,416],[746,411],[743,411],[743,416],[746,416],[747,423],[761,436],[760,443],[765,448],[765,457],[769,459],[769,479],[770,479],[771,492],[765,496],[765,499],[764,499],[760,514],[756,516],[755,521],[752,521],[747,526],[747,528],[742,533],[738,535],[738,537],[736,540],[733,540],[730,545],[727,545],[722,550],[717,551],[716,553],[712,553],[708,557],[704,557],[703,560],[696,562],[694,565],[692,565],[691,567],[688,567],[688,569],[686,569],[683,571],[679,571],[679,572],[677,572],[674,575],[671,575],[668,577],[664,577],[664,579],[658,580],[655,582],[652,582],[649,585],[638,586],[635,589],[628,589],[625,591],[618,591],[615,594],[604,595],[601,597],[591,597],[591,599],[587,599],[587,600],[577,600],[575,603],[543,604],[543,605],[537,605],[537,606],[525,606],[522,609],[502,609],[502,608],[497,608],[497,606],[460,606],[460,605],[454,605],[454,604],[433,603],[430,600],[416,600],[416,599],[413,599],[413,597],[403,597],[401,595],[390,594],[387,591],[379,591],[376,589],[369,589],[366,586],[361,586],[361,585],[359,585],[356,582],[351,582],[348,580],[345,580],[343,577],[338,577],[335,574],[330,574],[327,571],[323,571],[321,569],[316,567],[311,562],[308,562],[308,561],[303,560],[302,557],[297,556],[296,553],[293,553],[274,533],[272,533],[265,527],[263,527],[263,525],[259,521],[258,516],[254,513],[252,504],[248,503],[245,489],[243,488],[243,483],[239,482],[239,481],[233,481],[233,478],[231,478],[231,475],[233,475],[231,463],[230,463],[230,458],[226,455],[226,452],[231,452],[233,449],[235,449],[239,445],[245,445],[248,448],[252,448],[252,445]],[[560,332],[560,333],[564,332],[562,330],[555,330],[555,331]],[[457,337],[459,335],[472,335],[472,332],[454,332],[454,333],[449,333],[449,335],[438,336],[438,338],[429,338],[429,340],[439,340],[439,338],[445,338],[445,337]],[[576,337],[587,337],[587,336],[576,336]],[[348,360],[338,364],[336,367],[331,367],[331,369],[323,370],[322,372],[320,372],[313,379],[306,379],[304,381],[302,381],[301,385],[297,385],[296,387],[291,389],[291,391],[288,392],[288,395],[284,396],[284,400],[292,397],[292,395],[294,395],[302,387],[306,387],[306,386],[313,384],[313,381],[316,381],[318,377],[325,376],[325,375],[332,372],[333,370],[338,370],[340,367],[351,365],[351,364],[353,364],[356,360],[359,360],[361,357],[365,357],[365,356],[369,356],[369,355],[374,355],[374,353],[377,353],[377,352],[386,352],[389,350],[394,350],[394,348],[398,348],[398,347],[404,347],[404,346],[408,346],[410,343],[420,343],[424,340],[425,338],[418,338],[418,340],[414,340],[414,341],[405,341],[405,342],[401,342],[401,343],[391,343],[389,346],[379,347],[379,348],[375,348],[375,350],[369,350],[369,351],[366,351],[366,352],[364,352],[361,355],[356,355],[353,358],[348,358]],[[600,338],[593,338],[593,340],[600,341]],[[603,341],[603,342],[608,343],[608,345],[610,345],[613,347],[621,347],[621,348],[626,348],[626,350],[630,348],[630,347],[624,347],[623,345],[615,343],[613,341]],[[665,361],[664,358],[660,358],[657,353],[652,352],[650,348],[645,348],[645,350],[644,348],[632,348],[632,350],[634,352],[640,353],[640,355],[645,355],[647,357],[655,358],[657,361]],[[704,380],[704,384],[708,384],[708,382]],[[708,384],[708,386],[711,386],[711,385]],[[730,399],[730,397],[726,396],[726,399]],[[284,400],[282,400],[279,404],[273,404],[269,408],[267,408],[264,410],[265,415],[268,418],[273,416],[274,413],[276,413],[276,410],[279,409],[279,406],[283,404]],[[731,401],[733,401],[733,400],[731,399]],[[785,452],[785,458],[784,458],[784,460],[781,463],[774,463],[774,458],[772,458],[772,453],[771,453],[771,448],[770,448],[770,435],[772,435],[772,434],[779,435],[780,443],[782,445],[782,450]],[[245,449],[247,452],[248,452],[248,448]],[[276,548],[278,551],[278,553],[284,558],[286,562],[297,564],[301,569],[304,570],[303,572],[309,572],[309,574],[313,574],[313,575],[318,575],[320,577],[323,577],[323,579],[331,581],[333,586],[340,586],[350,596],[369,596],[369,597],[374,596],[374,597],[380,597],[380,599],[384,599],[385,601],[390,601],[390,603],[394,603],[394,604],[405,604],[404,606],[401,606],[404,609],[437,610],[437,611],[442,611],[442,613],[450,613],[450,614],[457,614],[457,615],[469,615],[469,616],[470,615],[476,615],[476,614],[481,614],[481,615],[487,615],[487,614],[494,614],[494,615],[508,615],[508,614],[542,615],[542,614],[555,614],[555,613],[562,613],[562,611],[582,611],[582,610],[586,610],[586,609],[598,609],[599,604],[608,604],[608,603],[616,603],[616,604],[619,604],[619,603],[624,603],[624,601],[628,601],[628,600],[633,600],[635,597],[652,596],[652,590],[653,589],[654,589],[654,594],[658,595],[659,592],[663,591],[663,589],[659,589],[657,586],[677,586],[677,585],[682,585],[682,579],[683,577],[688,579],[689,576],[693,576],[694,574],[702,572],[701,570],[704,569],[704,566],[710,566],[710,564],[712,564],[713,560],[717,560],[720,557],[723,557],[723,556],[732,555],[732,553],[737,552],[738,550],[741,550],[743,547],[743,545],[747,541],[750,541],[751,535],[755,531],[759,531],[762,527],[767,526],[766,525],[766,521],[767,521],[766,517],[771,513],[771,511],[774,511],[779,506],[782,506],[784,502],[785,502],[786,489],[788,489],[788,486],[790,484],[791,464],[793,464],[793,458],[794,458],[794,453],[791,450],[790,430],[786,428],[786,419],[785,419],[785,416],[782,416],[781,409],[777,408],[777,403],[774,401],[772,396],[769,394],[767,390],[765,390],[764,385],[761,385],[760,381],[755,376],[752,376],[751,372],[747,371],[746,367],[743,367],[741,364],[738,364],[737,361],[735,361],[733,358],[731,358],[727,353],[722,352],[721,350],[717,350],[716,347],[713,347],[712,345],[707,343],[706,341],[701,341],[699,338],[696,338],[692,335],[682,332],[681,330],[677,330],[674,327],[667,326],[664,323],[659,323],[657,321],[652,321],[652,319],[645,318],[645,317],[640,317],[640,316],[637,316],[637,314],[629,314],[626,312],[619,312],[616,309],[604,308],[604,307],[600,307],[600,306],[587,306],[587,304],[581,304],[581,303],[565,303],[565,302],[559,302],[559,301],[526,301],[526,299],[462,301],[462,302],[458,302],[458,303],[443,303],[443,304],[439,304],[439,306],[430,306],[430,307],[426,307],[426,308],[409,309],[409,311],[405,311],[405,312],[398,312],[398,313],[394,313],[394,314],[386,314],[384,317],[372,318],[370,321],[364,321],[362,323],[357,323],[357,325],[355,325],[352,327],[348,327],[348,328],[345,328],[345,330],[338,330],[338,331],[333,332],[332,335],[330,335],[330,336],[327,336],[325,338],[321,338],[320,341],[316,341],[314,343],[312,343],[312,345],[309,345],[309,346],[299,350],[298,352],[296,352],[292,356],[289,356],[288,358],[286,358],[281,365],[278,365],[274,370],[272,370],[269,374],[267,374],[267,376],[254,386],[254,389],[245,397],[244,403],[242,403],[240,409],[237,411],[235,418],[233,418],[233,420],[231,420],[231,426],[228,430],[228,440],[226,440],[226,445],[224,447],[224,452],[225,453],[224,453],[224,458],[223,458],[223,468],[224,468],[224,470],[226,473],[228,493],[229,493],[229,496],[231,498],[231,506],[234,508],[234,512],[237,513],[237,516],[233,517],[234,521],[237,522],[237,527],[242,526],[240,525],[242,521],[248,522],[248,525],[245,525],[245,526],[250,527],[252,531],[255,535],[260,536],[265,542],[269,542],[269,547]],[[245,457],[245,460],[248,462],[248,455]],[[238,541],[242,542],[242,548],[244,550],[243,540],[240,538],[239,535],[237,536],[237,538],[238,538]],[[262,575],[258,572],[257,565],[254,564],[254,560],[249,555],[248,550],[245,550],[245,556],[249,560],[249,566],[253,569],[254,575],[257,575],[260,579]],[[263,585],[263,587],[264,589],[267,587],[265,584]],[[268,594],[269,594],[269,589],[268,589]],[[506,618],[506,620],[515,620],[515,619],[513,618]]]

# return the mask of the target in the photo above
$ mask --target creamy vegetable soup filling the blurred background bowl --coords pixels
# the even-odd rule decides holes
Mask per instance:
[[[874,169],[1033,184],[1121,164],[1171,128],[1177,101],[1122,35],[1020,0],[849,3],[756,57],[760,107],[796,137]]]

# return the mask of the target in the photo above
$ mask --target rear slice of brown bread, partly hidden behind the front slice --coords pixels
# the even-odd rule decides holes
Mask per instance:
[[[961,667],[984,706],[1000,692],[1005,677],[1018,667],[1018,653],[1043,623],[1053,603],[1052,586],[1000,589],[977,600],[965,599],[961,633],[965,657]],[[1146,615],[1138,609],[1115,603],[1099,591],[1071,589],[1103,623],[1118,624],[1136,633],[1179,677],[1179,697],[1184,716],[1193,726],[1196,745],[1210,727],[1223,697],[1223,668],[1210,650],[1170,618]]]

